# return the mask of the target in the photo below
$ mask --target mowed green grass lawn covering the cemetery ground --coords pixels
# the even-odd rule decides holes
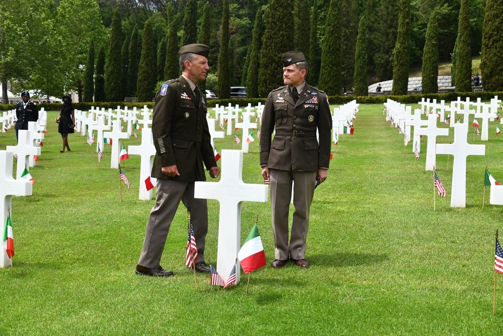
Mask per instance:
[[[225,290],[209,275],[185,266],[187,213],[180,207],[161,265],[175,277],[134,274],[153,200],[138,200],[139,156],[110,169],[78,133],[71,152],[59,153],[57,125],[48,125],[42,155],[30,169],[33,195],[13,197],[14,274],[0,270],[0,334],[170,335],[501,335],[503,279],[492,315],[494,234],[502,208],[482,211],[484,167],[503,179],[503,139],[490,122],[485,156],[470,156],[466,208],[450,208],[452,157],[437,156],[448,196],[434,212],[433,172],[425,171],[426,138],[419,161],[412,144],[390,128],[382,105],[361,105],[355,134],[332,146],[328,179],[311,206],[306,258],[311,267],[269,265]],[[54,120],[56,112],[49,112]],[[426,116],[424,116],[426,118]],[[446,127],[439,122],[439,127]],[[470,126],[473,131],[473,127]],[[241,140],[246,138],[241,129]],[[124,141],[126,148],[138,139]],[[257,138],[257,136],[256,136]],[[448,143],[449,137],[437,138]],[[0,133],[0,150],[15,143]],[[473,143],[469,133],[468,142]],[[232,137],[215,141],[240,149]],[[263,183],[258,141],[243,155],[243,181]],[[0,163],[2,164],[2,163]],[[14,169],[15,174],[15,169]],[[211,180],[208,178],[208,180]],[[216,264],[219,204],[208,201],[207,263]],[[293,210],[293,208],[292,208]],[[268,263],[274,259],[269,203],[243,202],[241,242],[259,215]],[[501,228],[501,227],[500,227]]]

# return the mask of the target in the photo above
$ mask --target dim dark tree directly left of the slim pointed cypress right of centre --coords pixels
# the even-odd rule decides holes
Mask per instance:
[[[342,77],[343,92],[351,91],[355,77],[355,48],[359,27],[358,4],[356,0],[341,2],[341,35],[342,35]]]

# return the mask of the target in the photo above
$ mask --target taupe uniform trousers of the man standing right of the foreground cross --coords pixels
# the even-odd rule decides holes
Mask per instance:
[[[271,181],[275,258],[287,260],[290,255],[292,259],[304,259],[307,230],[309,229],[309,208],[314,195],[316,172],[270,169],[269,177]],[[288,218],[290,200],[292,199],[292,182],[295,211],[293,213],[290,244],[288,244]]]

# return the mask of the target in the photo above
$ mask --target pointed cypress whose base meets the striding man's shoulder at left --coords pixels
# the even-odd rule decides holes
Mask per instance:
[[[141,57],[138,64],[138,82],[136,87],[139,102],[152,101],[154,97],[153,90],[157,79],[154,50],[152,24],[150,23],[150,19],[148,19],[143,27]]]

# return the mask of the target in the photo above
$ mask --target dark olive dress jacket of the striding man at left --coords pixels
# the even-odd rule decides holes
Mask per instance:
[[[199,89],[198,89],[199,90]],[[186,79],[164,82],[157,90],[152,115],[155,157],[151,176],[185,182],[205,181],[207,169],[216,167],[206,120],[205,95],[196,101]],[[165,166],[177,165],[180,176],[162,173]]]

